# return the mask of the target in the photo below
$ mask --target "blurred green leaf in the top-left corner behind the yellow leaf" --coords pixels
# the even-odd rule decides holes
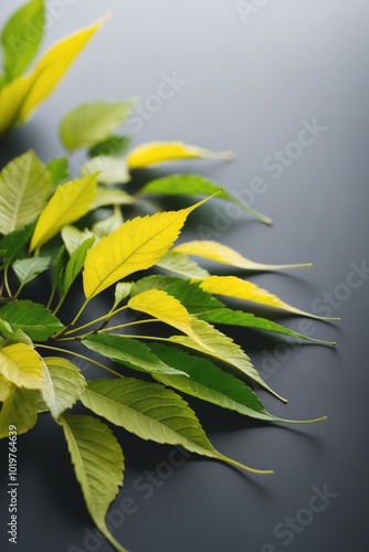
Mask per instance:
[[[38,53],[44,31],[43,0],[31,0],[17,10],[1,33],[2,63],[7,79],[20,76]]]

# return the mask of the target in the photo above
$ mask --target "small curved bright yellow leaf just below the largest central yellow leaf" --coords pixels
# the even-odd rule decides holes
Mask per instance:
[[[193,335],[190,314],[176,297],[166,291],[149,289],[137,294],[129,299],[128,307],[146,312],[183,333]]]

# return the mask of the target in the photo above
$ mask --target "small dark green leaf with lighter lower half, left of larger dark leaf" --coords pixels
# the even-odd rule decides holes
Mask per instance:
[[[181,371],[161,362],[146,344],[137,339],[95,333],[83,339],[82,342],[87,349],[134,370],[148,373],[182,374]]]

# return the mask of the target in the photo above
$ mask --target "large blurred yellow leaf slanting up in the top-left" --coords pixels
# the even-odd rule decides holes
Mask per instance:
[[[66,70],[106,18],[62,39],[39,61],[33,71],[14,78],[0,91],[0,134],[24,123],[55,88]]]

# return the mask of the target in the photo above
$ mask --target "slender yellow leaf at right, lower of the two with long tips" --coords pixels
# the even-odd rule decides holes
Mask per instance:
[[[257,302],[267,307],[278,308],[293,312],[294,315],[307,316],[317,319],[328,319],[296,309],[284,302],[276,295],[270,294],[266,289],[257,287],[251,282],[245,282],[236,276],[209,276],[200,283],[200,287],[210,294],[225,295],[235,299]]]

